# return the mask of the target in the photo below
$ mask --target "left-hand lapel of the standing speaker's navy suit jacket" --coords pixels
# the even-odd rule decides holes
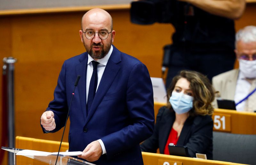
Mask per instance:
[[[81,104],[81,110],[83,113],[84,119],[86,118],[86,71],[87,71],[87,61],[88,61],[88,53],[84,53],[84,55],[79,59],[80,64],[76,66],[76,74],[81,75],[80,85],[77,85],[79,92],[79,99]]]

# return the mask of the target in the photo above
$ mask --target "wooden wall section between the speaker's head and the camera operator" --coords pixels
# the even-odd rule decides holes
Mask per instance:
[[[122,52],[142,61],[150,76],[161,76],[163,47],[171,43],[174,29],[171,24],[136,25],[130,21],[129,10],[110,11],[113,29],[116,30],[114,45]]]

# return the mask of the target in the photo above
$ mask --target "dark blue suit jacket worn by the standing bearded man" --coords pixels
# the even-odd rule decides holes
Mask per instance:
[[[88,53],[64,62],[54,100],[56,132],[64,126],[77,75],[81,75],[69,112],[69,151],[83,151],[101,139],[107,154],[95,164],[143,164],[139,143],[154,130],[153,88],[148,69],[136,58],[113,46],[91,110],[86,114]]]

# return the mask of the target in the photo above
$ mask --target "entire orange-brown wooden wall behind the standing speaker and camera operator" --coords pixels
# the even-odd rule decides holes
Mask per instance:
[[[244,16],[236,21],[236,29],[256,25],[255,9],[255,4],[247,5]],[[17,136],[60,140],[61,131],[42,133],[40,116],[53,99],[64,60],[85,51],[78,32],[84,12],[0,16],[0,58],[18,59],[15,64]],[[160,77],[163,47],[172,42],[172,25],[132,24],[128,9],[109,10],[109,13],[116,30],[114,45],[145,63],[152,77]],[[68,127],[64,141],[68,141]]]

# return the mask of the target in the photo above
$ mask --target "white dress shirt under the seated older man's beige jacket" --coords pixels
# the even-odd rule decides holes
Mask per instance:
[[[239,72],[237,82],[236,82],[236,92],[234,97],[235,103],[238,103],[239,101],[244,99],[244,97],[246,97],[249,94],[250,88],[251,88],[251,83],[246,80],[246,77],[243,75],[242,72]],[[245,102],[246,100],[238,104],[236,106],[236,111],[244,111]]]

